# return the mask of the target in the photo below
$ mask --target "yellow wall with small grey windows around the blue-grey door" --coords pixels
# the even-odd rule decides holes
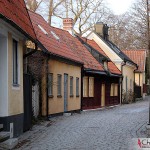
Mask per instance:
[[[81,67],[56,60],[49,60],[49,73],[53,74],[53,97],[49,97],[49,114],[64,112],[64,74],[68,74],[68,111],[79,110],[81,105]],[[62,97],[57,97],[57,74],[62,75]],[[73,97],[70,97],[70,76],[73,76]],[[76,97],[76,77],[79,78],[79,97]],[[45,97],[45,94],[43,95]],[[43,115],[46,115],[46,100],[43,102]],[[45,106],[45,107],[44,107]]]

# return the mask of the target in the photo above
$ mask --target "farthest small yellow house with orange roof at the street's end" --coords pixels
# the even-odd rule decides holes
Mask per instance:
[[[146,91],[144,90],[144,86],[145,86],[146,50],[145,49],[123,50],[123,52],[138,65],[138,69],[135,70],[135,86],[141,87],[141,93],[137,93],[137,97],[141,96],[145,97]]]

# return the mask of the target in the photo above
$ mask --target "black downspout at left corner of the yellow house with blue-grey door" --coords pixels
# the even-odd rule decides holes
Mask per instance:
[[[46,89],[47,89],[47,97],[46,97],[46,116],[47,120],[49,120],[49,103],[48,103],[48,57],[46,59]]]

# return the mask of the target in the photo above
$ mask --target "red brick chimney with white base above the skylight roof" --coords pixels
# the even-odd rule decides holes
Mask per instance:
[[[73,19],[72,18],[64,18],[63,19],[63,29],[68,31],[71,35],[73,35]]]

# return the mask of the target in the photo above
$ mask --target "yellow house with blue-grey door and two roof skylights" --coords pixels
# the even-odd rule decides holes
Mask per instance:
[[[42,116],[80,110],[82,61],[64,42],[66,31],[51,27],[36,13],[29,14],[44,51],[37,53],[45,56],[41,70]]]

